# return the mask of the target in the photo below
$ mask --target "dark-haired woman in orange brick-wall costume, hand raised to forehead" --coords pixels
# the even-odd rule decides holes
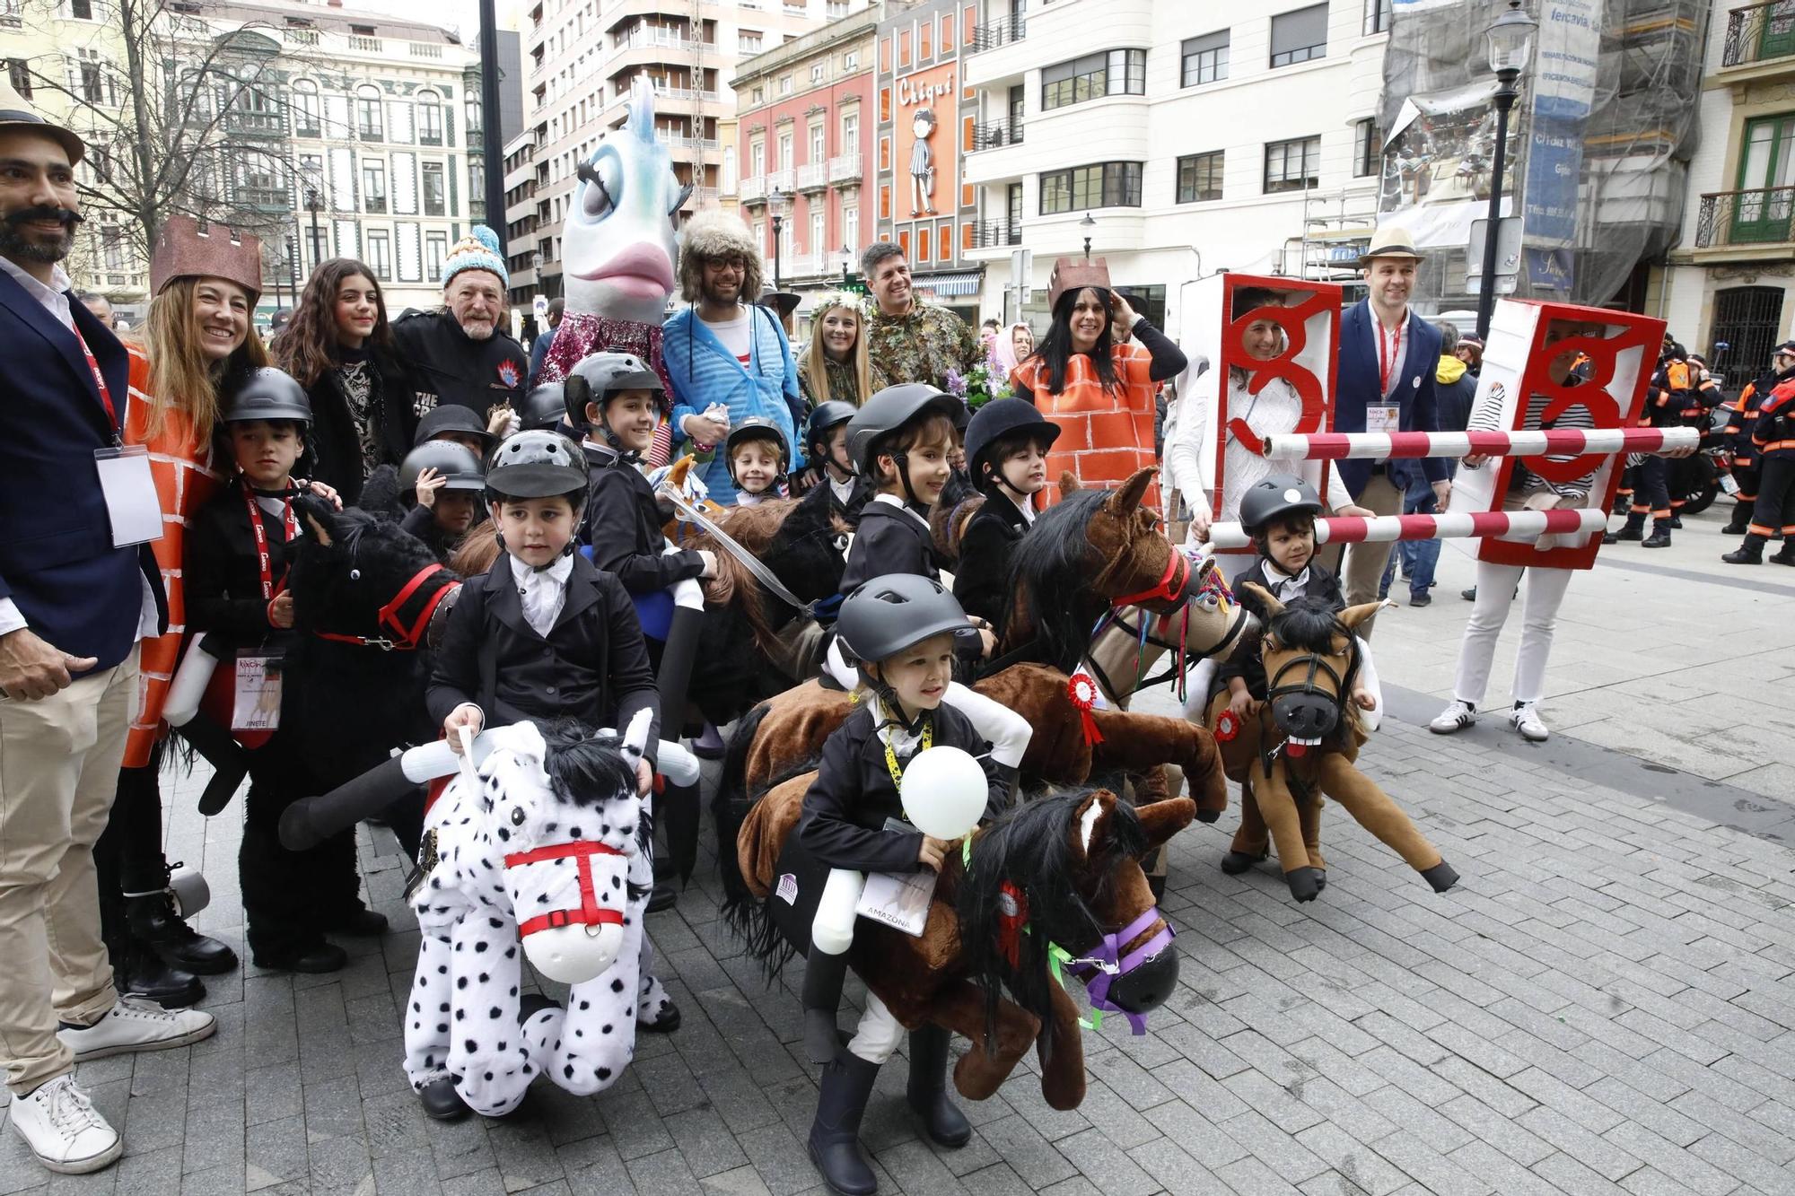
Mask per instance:
[[[1041,347],[1011,370],[1016,397],[1061,427],[1046,458],[1050,481],[1041,505],[1059,501],[1061,470],[1072,470],[1082,487],[1113,488],[1156,465],[1154,393],[1186,365],[1178,345],[1115,293],[1100,257],[1054,262],[1046,302],[1054,325]],[[1133,339],[1116,343],[1124,330]],[[1142,501],[1158,506],[1158,485]]]

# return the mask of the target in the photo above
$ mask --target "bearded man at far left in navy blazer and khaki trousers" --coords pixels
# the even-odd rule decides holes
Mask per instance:
[[[0,81],[0,1063],[13,1128],[59,1173],[118,1158],[75,1063],[197,1042],[208,1013],[118,997],[101,943],[93,842],[138,679],[167,625],[145,541],[162,533],[145,456],[118,456],[129,361],[70,302],[86,147]]]

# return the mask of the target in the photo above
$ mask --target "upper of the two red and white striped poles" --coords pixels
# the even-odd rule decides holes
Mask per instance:
[[[1339,462],[1346,458],[1418,456],[1596,456],[1608,453],[1675,453],[1700,447],[1694,427],[1598,427],[1467,433],[1289,433],[1265,436],[1276,462]]]

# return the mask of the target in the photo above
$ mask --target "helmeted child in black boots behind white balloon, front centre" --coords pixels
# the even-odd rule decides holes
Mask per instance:
[[[1009,805],[1014,779],[1014,767],[1000,763],[998,752],[953,704],[959,688],[951,684],[955,641],[976,632],[953,594],[933,578],[915,575],[880,576],[858,587],[842,603],[836,630],[858,663],[862,690],[847,722],[822,747],[817,779],[804,796],[797,844],[833,869],[939,871],[951,844],[905,822],[898,783],[910,760],[939,745],[980,756],[989,781],[985,817]],[[813,1060],[829,1061],[810,1131],[810,1156],[835,1191],[871,1192],[874,1178],[856,1140],[860,1119],[903,1027],[876,995],[867,993],[858,1033],[840,1045],[835,1011],[845,968],[845,950],[833,955],[811,950],[804,973],[804,1043]],[[948,1038],[939,1025],[912,1031],[908,1101],[932,1140],[964,1146],[971,1126],[946,1094]]]

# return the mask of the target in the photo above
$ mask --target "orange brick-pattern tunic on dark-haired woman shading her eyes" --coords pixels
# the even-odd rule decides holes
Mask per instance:
[[[1070,470],[1084,487],[1115,488],[1136,470],[1158,465],[1152,454],[1156,383],[1149,377],[1152,356],[1140,345],[1109,350],[1116,384],[1104,390],[1088,354],[1066,361],[1066,384],[1048,391],[1046,361],[1030,357],[1011,370],[1011,381],[1027,386],[1041,415],[1059,424],[1059,440],[1046,454],[1046,488],[1041,506],[1059,494],[1059,474]],[[1160,485],[1147,487],[1145,506],[1160,506]]]

